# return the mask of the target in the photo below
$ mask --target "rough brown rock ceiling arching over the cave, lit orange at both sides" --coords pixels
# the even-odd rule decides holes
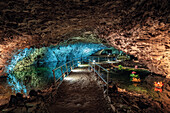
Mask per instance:
[[[86,35],[86,41],[112,45],[170,77],[168,6],[168,0],[0,1],[0,70],[17,49]]]

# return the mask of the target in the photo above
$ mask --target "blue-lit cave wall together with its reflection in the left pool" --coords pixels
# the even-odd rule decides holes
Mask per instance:
[[[7,66],[8,83],[15,93],[27,93],[27,89],[48,84],[53,77],[52,70],[56,67],[75,58],[89,56],[104,48],[106,46],[102,44],[77,43],[18,50]],[[56,73],[56,78],[60,75],[61,72]]]

